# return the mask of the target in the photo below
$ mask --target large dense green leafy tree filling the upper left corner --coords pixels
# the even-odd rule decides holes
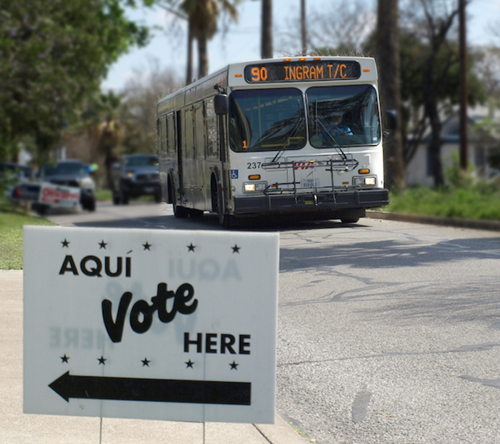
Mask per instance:
[[[134,0],[1,2],[0,159],[26,136],[48,151],[109,66],[146,43],[147,29],[126,19],[124,5]]]

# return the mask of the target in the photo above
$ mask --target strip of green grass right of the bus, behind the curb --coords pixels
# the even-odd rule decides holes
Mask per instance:
[[[389,205],[382,209],[395,213],[500,221],[500,190],[481,185],[439,190],[409,188],[391,193]]]

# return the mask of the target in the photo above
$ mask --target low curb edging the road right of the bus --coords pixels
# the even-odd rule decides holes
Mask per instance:
[[[440,216],[422,216],[418,214],[388,213],[386,211],[366,211],[366,217],[371,219],[387,219],[390,221],[429,223],[431,225],[500,231],[500,221],[486,221],[481,219],[445,218]]]

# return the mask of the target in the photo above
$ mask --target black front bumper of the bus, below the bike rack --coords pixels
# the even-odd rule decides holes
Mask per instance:
[[[389,203],[385,188],[329,193],[269,194],[234,198],[234,216],[256,213],[309,213],[380,208]]]

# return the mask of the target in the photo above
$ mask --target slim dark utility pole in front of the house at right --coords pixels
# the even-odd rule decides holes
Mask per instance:
[[[467,41],[466,0],[459,0],[459,47],[460,47],[460,168],[464,171],[468,163],[468,118],[467,118]]]

